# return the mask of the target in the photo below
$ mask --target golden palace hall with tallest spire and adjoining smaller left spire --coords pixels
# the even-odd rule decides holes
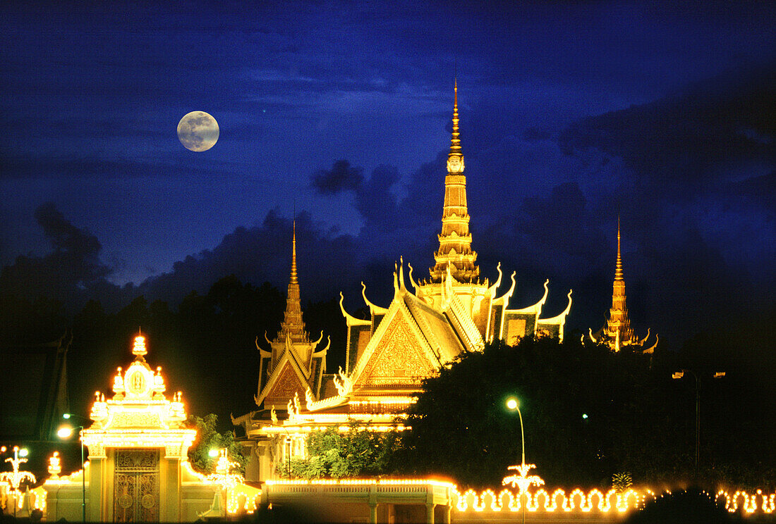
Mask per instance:
[[[539,302],[510,309],[514,272],[510,288],[501,295],[497,294],[501,266],[495,283],[480,279],[469,232],[463,171],[456,85],[435,264],[428,280],[414,281],[412,266],[407,265],[405,278],[404,262],[400,261],[393,272],[393,300],[388,307],[369,302],[362,284],[369,319],[349,315],[341,298],[348,337],[345,369],[340,367],[336,374],[326,373],[328,344],[320,347],[323,334],[312,342],[302,321],[294,234],[285,318],[275,340],[265,340],[269,349],[259,348],[262,359],[255,395],[259,409],[233,419],[246,433],[244,445],[251,456],[248,480],[275,477],[275,467],[283,460],[304,457],[304,440],[314,429],[334,426],[344,431],[352,421],[365,422],[377,431],[390,429],[397,415],[413,402],[412,395],[421,391],[421,380],[459,353],[482,351],[492,340],[515,343],[522,336],[533,335],[563,339],[571,291],[563,312],[542,319],[548,282]]]

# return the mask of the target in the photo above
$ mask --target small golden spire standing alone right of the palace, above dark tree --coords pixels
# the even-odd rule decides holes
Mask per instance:
[[[644,353],[653,353],[659,341],[657,335],[655,335],[655,343],[650,347],[645,347],[646,340],[650,338],[650,330],[646,330],[646,336],[643,339],[639,339],[633,334],[628,318],[628,306],[625,305],[625,277],[623,275],[620,251],[620,219],[617,217],[617,262],[615,263],[615,282],[612,284],[609,318],[598,332],[593,333],[592,329],[588,329],[588,332],[591,340],[604,342],[615,352],[624,347],[630,347],[642,350]]]

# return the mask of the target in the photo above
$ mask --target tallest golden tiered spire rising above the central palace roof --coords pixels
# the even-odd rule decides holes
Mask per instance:
[[[458,79],[456,78],[452,105],[452,138],[447,155],[445,202],[442,206],[442,233],[438,235],[439,250],[434,253],[436,264],[431,267],[431,282],[445,279],[448,268],[456,281],[476,283],[480,268],[476,266],[477,253],[472,251],[469,233],[469,212],[466,207],[466,175],[463,174],[463,153],[458,128]]]

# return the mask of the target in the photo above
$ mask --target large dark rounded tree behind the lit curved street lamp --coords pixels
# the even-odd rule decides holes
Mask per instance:
[[[401,462],[412,464],[407,473],[441,474],[462,486],[499,484],[507,467],[520,463],[520,420],[505,408],[514,395],[526,462],[537,464],[548,484],[606,485],[617,471],[639,471],[625,460],[631,448],[624,456],[622,443],[641,438],[650,446],[634,433],[643,415],[637,401],[649,400],[648,359],[578,338],[526,337],[462,355],[424,380]]]

